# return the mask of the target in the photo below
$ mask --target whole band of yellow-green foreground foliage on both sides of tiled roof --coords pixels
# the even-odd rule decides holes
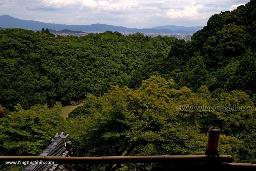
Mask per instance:
[[[222,130],[219,152],[235,162],[255,162],[255,111],[180,111],[177,106],[240,105],[253,103],[244,92],[211,97],[206,86],[197,93],[174,89],[172,79],[151,76],[136,90],[111,86],[102,96],[89,94],[86,103],[60,117],[61,104],[24,110],[15,106],[0,119],[1,155],[38,155],[56,132],[70,134],[76,156],[203,155],[210,126]],[[6,166],[1,166],[5,168]],[[90,166],[92,170],[154,170],[162,164]],[[171,167],[171,166],[168,166]],[[175,166],[172,166],[175,167]],[[17,169],[10,168],[8,169]],[[111,169],[112,168],[112,169]]]

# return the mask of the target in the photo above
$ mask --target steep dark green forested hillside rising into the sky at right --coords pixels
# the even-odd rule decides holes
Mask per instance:
[[[175,80],[176,88],[186,86],[194,92],[206,85],[214,97],[222,92],[241,90],[256,99],[256,5],[250,1],[232,12],[210,17],[207,25],[197,31],[191,41],[175,40],[165,62],[153,71]],[[132,74],[138,87],[145,79],[147,64]],[[137,77],[139,75],[139,78]]]

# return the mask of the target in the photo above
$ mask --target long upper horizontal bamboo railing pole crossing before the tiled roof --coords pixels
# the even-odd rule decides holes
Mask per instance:
[[[57,157],[57,156],[0,156],[6,161],[52,161],[55,164],[116,164],[116,163],[229,163],[231,155],[217,156],[109,156],[109,157]]]

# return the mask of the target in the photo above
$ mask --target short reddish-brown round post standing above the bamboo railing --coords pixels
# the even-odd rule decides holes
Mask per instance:
[[[220,138],[220,129],[217,127],[210,127],[205,155],[218,154],[219,138]]]

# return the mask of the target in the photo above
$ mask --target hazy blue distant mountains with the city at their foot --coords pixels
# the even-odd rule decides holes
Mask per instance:
[[[21,20],[11,17],[9,15],[0,16],[0,27],[4,28],[24,28],[31,30],[41,30],[43,27],[52,30],[76,30],[76,31],[119,31],[119,32],[142,32],[142,33],[195,33],[202,29],[202,26],[184,27],[184,26],[158,26],[153,28],[127,28],[122,26],[113,26],[107,24],[92,24],[92,25],[66,25],[66,24],[52,24],[43,23],[33,20]]]

